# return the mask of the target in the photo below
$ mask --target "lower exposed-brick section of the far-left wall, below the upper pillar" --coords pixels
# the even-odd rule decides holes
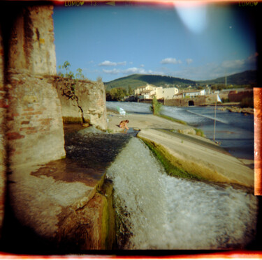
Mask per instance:
[[[12,75],[8,84],[10,166],[43,163],[65,156],[61,105],[47,79]]]

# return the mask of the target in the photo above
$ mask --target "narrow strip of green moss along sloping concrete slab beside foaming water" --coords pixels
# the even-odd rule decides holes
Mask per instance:
[[[151,142],[147,142],[145,139],[142,139],[143,142],[150,148],[152,153],[155,155],[155,157],[161,162],[164,169],[166,170],[166,173],[169,176],[173,177],[180,177],[180,178],[187,178],[191,180],[200,181],[203,180],[203,178],[195,176],[193,174],[189,174],[187,171],[184,171],[184,169],[181,169],[179,167],[175,167],[166,157],[163,155],[163,153],[154,146]]]

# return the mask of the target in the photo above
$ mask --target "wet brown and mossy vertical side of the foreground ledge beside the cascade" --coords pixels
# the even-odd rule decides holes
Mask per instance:
[[[103,193],[103,194],[101,194]],[[57,243],[68,252],[110,250],[115,247],[115,210],[112,183],[105,181],[100,192],[82,208],[66,208],[59,214]]]

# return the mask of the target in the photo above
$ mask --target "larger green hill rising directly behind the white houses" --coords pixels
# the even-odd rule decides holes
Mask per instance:
[[[146,86],[147,84],[152,84],[154,86],[163,86],[164,84],[188,86],[196,84],[196,82],[189,79],[180,79],[179,77],[133,74],[112,80],[111,82],[104,82],[104,84],[106,89],[110,90],[120,87],[123,89],[129,89],[129,86],[131,86],[132,89],[136,89],[138,86]]]

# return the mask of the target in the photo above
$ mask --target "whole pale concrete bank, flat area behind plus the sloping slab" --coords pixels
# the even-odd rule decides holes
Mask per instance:
[[[110,132],[126,132],[119,122],[129,120],[128,127],[140,130],[138,137],[150,142],[175,166],[212,181],[238,183],[254,187],[254,160],[238,160],[210,139],[196,135],[194,128],[152,114],[120,116],[108,112]],[[165,130],[173,130],[173,132]]]

